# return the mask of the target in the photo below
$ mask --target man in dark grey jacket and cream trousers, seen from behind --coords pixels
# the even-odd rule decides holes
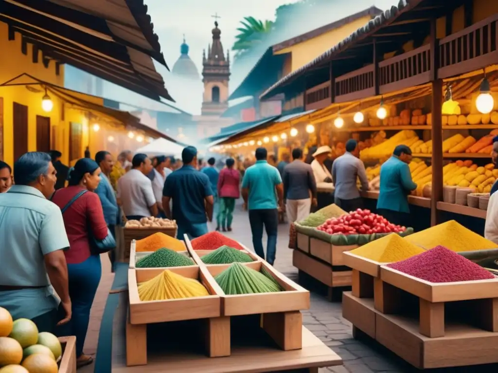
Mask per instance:
[[[316,182],[311,166],[304,163],[303,151],[292,151],[294,161],[283,169],[283,199],[290,223],[301,221],[310,213],[311,204],[317,205]],[[310,195],[311,194],[311,195]]]

